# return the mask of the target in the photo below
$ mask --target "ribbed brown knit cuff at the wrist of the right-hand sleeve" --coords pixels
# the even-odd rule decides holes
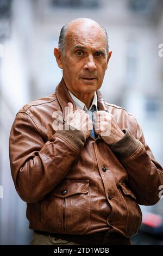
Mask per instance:
[[[132,135],[130,130],[123,129],[122,131],[125,133],[122,139],[112,143],[109,147],[116,154],[118,159],[124,160],[134,154],[141,142]]]

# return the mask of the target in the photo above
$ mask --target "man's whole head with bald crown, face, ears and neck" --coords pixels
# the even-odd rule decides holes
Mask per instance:
[[[105,29],[91,19],[71,21],[61,29],[54,56],[68,90],[89,106],[111,57]]]

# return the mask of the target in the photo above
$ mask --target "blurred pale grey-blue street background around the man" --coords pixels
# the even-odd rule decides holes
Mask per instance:
[[[112,57],[102,94],[133,113],[156,160],[163,164],[163,1],[0,0],[0,244],[28,245],[26,203],[11,179],[8,141],[15,114],[54,92],[61,70],[53,56],[60,29],[77,17],[106,28]],[[159,192],[159,191],[158,191]],[[133,244],[163,245],[163,199],[141,206]]]

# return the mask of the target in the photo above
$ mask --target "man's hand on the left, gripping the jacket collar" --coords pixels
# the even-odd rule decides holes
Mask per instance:
[[[90,136],[90,133],[93,129],[89,114],[86,114],[83,109],[80,108],[74,111],[71,102],[68,102],[68,114],[66,117],[66,123],[71,126],[71,130],[73,130],[73,126],[74,130],[76,129],[83,131],[85,138]]]

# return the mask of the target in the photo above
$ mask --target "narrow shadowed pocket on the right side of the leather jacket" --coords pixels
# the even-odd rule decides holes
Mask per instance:
[[[131,237],[135,235],[142,222],[142,212],[139,204],[136,202],[135,194],[123,182],[120,182],[121,196],[126,205],[126,235]]]

